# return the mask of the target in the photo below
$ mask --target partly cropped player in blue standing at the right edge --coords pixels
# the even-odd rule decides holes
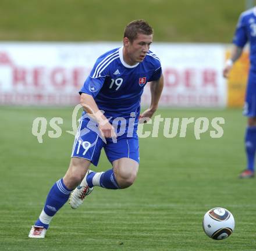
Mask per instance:
[[[230,59],[227,60],[223,76],[228,77],[233,63],[239,59],[244,45],[250,43],[250,72],[248,76],[246,100],[243,114],[248,117],[245,146],[247,168],[240,178],[254,177],[254,159],[256,150],[256,7],[241,13],[233,38],[233,48]]]

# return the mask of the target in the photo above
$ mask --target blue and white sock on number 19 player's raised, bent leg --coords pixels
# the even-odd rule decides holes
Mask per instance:
[[[106,189],[120,189],[118,182],[116,181],[113,169],[109,169],[104,173],[92,172],[87,175],[86,181],[89,187],[94,187],[96,185]]]

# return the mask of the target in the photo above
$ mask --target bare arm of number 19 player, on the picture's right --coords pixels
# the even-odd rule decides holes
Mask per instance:
[[[140,114],[140,121],[145,122],[143,118],[151,118],[158,107],[158,102],[163,90],[163,75],[158,80],[152,81],[150,83],[150,92],[151,92],[151,104],[150,107]]]

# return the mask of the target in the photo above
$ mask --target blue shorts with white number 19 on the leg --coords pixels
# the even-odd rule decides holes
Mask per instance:
[[[88,159],[94,166],[97,166],[102,148],[111,163],[122,157],[140,162],[137,134],[133,134],[132,137],[127,137],[127,134],[124,134],[116,140],[104,139],[99,134],[95,122],[91,123],[91,120],[87,119],[80,120],[71,156]]]

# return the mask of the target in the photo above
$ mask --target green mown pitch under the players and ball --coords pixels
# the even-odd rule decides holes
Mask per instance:
[[[239,180],[246,164],[241,110],[159,109],[162,117],[224,117],[222,138],[209,131],[195,139],[140,139],[140,168],[128,189],[95,188],[77,210],[66,204],[52,220],[45,239],[29,239],[49,188],[69,164],[73,136],[72,107],[63,109],[0,107],[0,249],[1,250],[255,250],[255,180]],[[31,134],[35,117],[62,117],[62,136]],[[147,125],[145,129],[149,129]],[[210,127],[209,130],[212,128]],[[47,128],[51,130],[51,128]],[[111,165],[102,153],[98,167]],[[214,241],[202,231],[204,213],[229,209],[234,233]]]

